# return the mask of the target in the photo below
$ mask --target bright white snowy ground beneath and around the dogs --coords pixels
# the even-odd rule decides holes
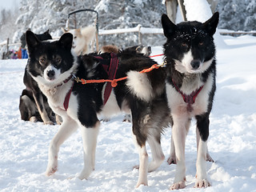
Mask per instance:
[[[186,188],[180,191],[256,191],[256,38],[223,37],[228,46],[218,48],[217,92],[210,116],[209,150],[215,162],[207,162],[212,186],[194,189],[195,126],[186,138]],[[160,54],[154,47],[153,54]],[[162,58],[158,58],[161,62]],[[77,131],[61,147],[58,171],[46,177],[47,151],[58,126],[23,122],[18,110],[24,85],[26,60],[0,61],[0,190],[1,191],[168,191],[175,166],[166,161],[148,174],[149,186],[134,190],[138,179],[137,150],[130,123],[122,115],[102,122],[98,136],[96,167],[88,180],[74,178],[83,166],[82,138]],[[166,159],[170,128],[162,137]],[[149,150],[150,152],[150,150]]]

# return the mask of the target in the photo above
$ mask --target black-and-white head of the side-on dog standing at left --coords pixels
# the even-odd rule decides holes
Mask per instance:
[[[72,34],[63,34],[58,41],[40,41],[33,32],[26,31],[30,59],[27,70],[34,80],[45,86],[54,86],[74,72],[75,58],[71,54]]]

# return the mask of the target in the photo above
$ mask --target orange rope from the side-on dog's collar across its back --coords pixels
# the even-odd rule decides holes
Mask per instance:
[[[151,70],[158,69],[159,67],[163,67],[165,65],[166,65],[166,61],[163,62],[161,65],[154,64],[153,66],[150,66],[150,68],[141,70],[139,73],[148,73]],[[127,76],[123,77],[123,78],[115,78],[113,80],[110,80],[110,79],[89,79],[89,80],[85,80],[83,78],[80,79],[80,78],[76,77],[76,78],[74,78],[74,80],[76,82],[82,82],[83,85],[87,84],[87,83],[111,82],[111,86],[115,87],[115,86],[118,86],[119,81],[125,80],[126,78],[127,78]]]

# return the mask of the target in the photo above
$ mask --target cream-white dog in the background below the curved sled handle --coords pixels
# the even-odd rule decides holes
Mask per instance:
[[[95,26],[86,26],[74,30],[66,30],[62,28],[64,33],[73,34],[72,50],[77,56],[90,53],[90,42],[96,35]]]

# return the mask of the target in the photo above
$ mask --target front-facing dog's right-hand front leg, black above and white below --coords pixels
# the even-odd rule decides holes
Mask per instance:
[[[207,180],[206,174],[206,153],[207,153],[207,139],[209,136],[209,116],[202,115],[196,116],[198,121],[198,132],[200,134],[200,139],[198,142],[198,158],[197,158],[197,181],[194,187],[202,188],[210,186],[210,182]]]

